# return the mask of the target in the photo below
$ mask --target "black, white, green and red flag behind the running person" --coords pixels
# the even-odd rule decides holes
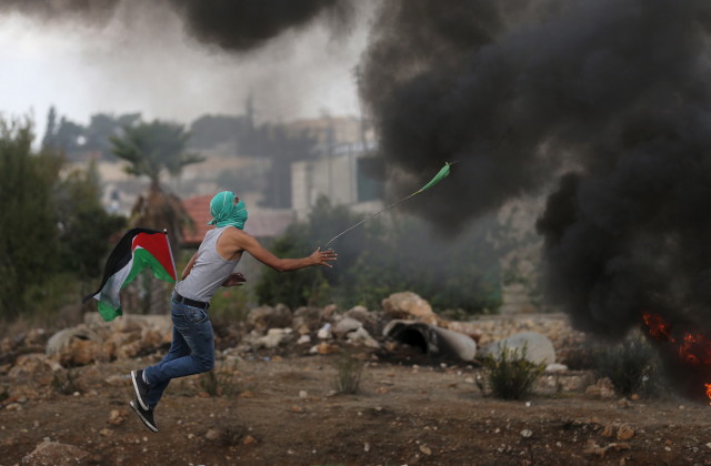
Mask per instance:
[[[86,296],[83,302],[93,297],[99,302],[99,313],[103,320],[113,321],[122,314],[120,291],[146,267],[150,267],[156,278],[176,282],[176,264],[168,234],[146,229],[129,230],[107,260],[101,286]]]

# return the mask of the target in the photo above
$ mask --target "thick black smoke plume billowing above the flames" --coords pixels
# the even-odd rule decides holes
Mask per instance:
[[[710,27],[704,0],[388,1],[360,89],[398,194],[461,161],[412,211],[458,232],[552,192],[548,297],[604,336],[661,315],[679,346],[711,331]]]

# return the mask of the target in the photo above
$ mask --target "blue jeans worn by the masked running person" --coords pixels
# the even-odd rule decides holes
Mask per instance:
[[[146,367],[150,385],[148,406],[153,409],[171,378],[212,371],[214,366],[214,334],[208,313],[183,303],[170,302],[173,341],[163,361]]]

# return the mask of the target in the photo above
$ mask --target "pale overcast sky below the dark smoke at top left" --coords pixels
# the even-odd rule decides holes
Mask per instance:
[[[39,135],[50,105],[82,124],[97,112],[190,123],[241,113],[250,92],[261,120],[359,114],[353,71],[365,19],[344,37],[317,24],[228,54],[187,37],[174,13],[144,4],[120,8],[100,27],[0,19],[0,113],[31,114]]]

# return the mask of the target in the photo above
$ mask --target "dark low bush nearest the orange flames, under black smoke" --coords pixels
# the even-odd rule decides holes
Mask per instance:
[[[608,377],[622,396],[654,396],[661,386],[660,362],[654,348],[639,336],[594,351],[598,377]]]

